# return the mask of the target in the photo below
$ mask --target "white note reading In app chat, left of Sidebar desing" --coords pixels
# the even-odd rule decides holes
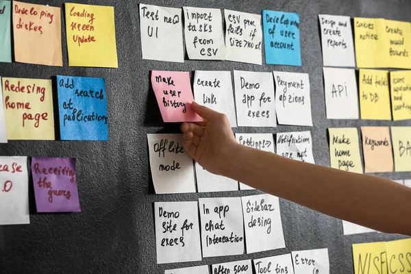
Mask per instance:
[[[240,197],[200,198],[203,257],[244,253]]]

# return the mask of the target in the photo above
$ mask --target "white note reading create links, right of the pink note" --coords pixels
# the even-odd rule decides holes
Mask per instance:
[[[237,127],[230,71],[195,71],[192,85],[194,99],[199,105],[227,115],[229,124]]]

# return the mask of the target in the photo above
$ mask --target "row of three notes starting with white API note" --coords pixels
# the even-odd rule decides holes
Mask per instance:
[[[361,119],[411,119],[411,71],[360,69],[358,79],[354,69],[323,73],[327,119],[358,119],[358,100]]]

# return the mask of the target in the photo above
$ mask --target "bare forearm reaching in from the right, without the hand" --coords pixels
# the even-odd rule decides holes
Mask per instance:
[[[338,219],[411,236],[411,188],[242,145],[229,159],[227,177]]]

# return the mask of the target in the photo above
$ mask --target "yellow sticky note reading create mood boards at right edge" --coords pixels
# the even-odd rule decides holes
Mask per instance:
[[[388,67],[411,69],[411,23],[386,20]]]

